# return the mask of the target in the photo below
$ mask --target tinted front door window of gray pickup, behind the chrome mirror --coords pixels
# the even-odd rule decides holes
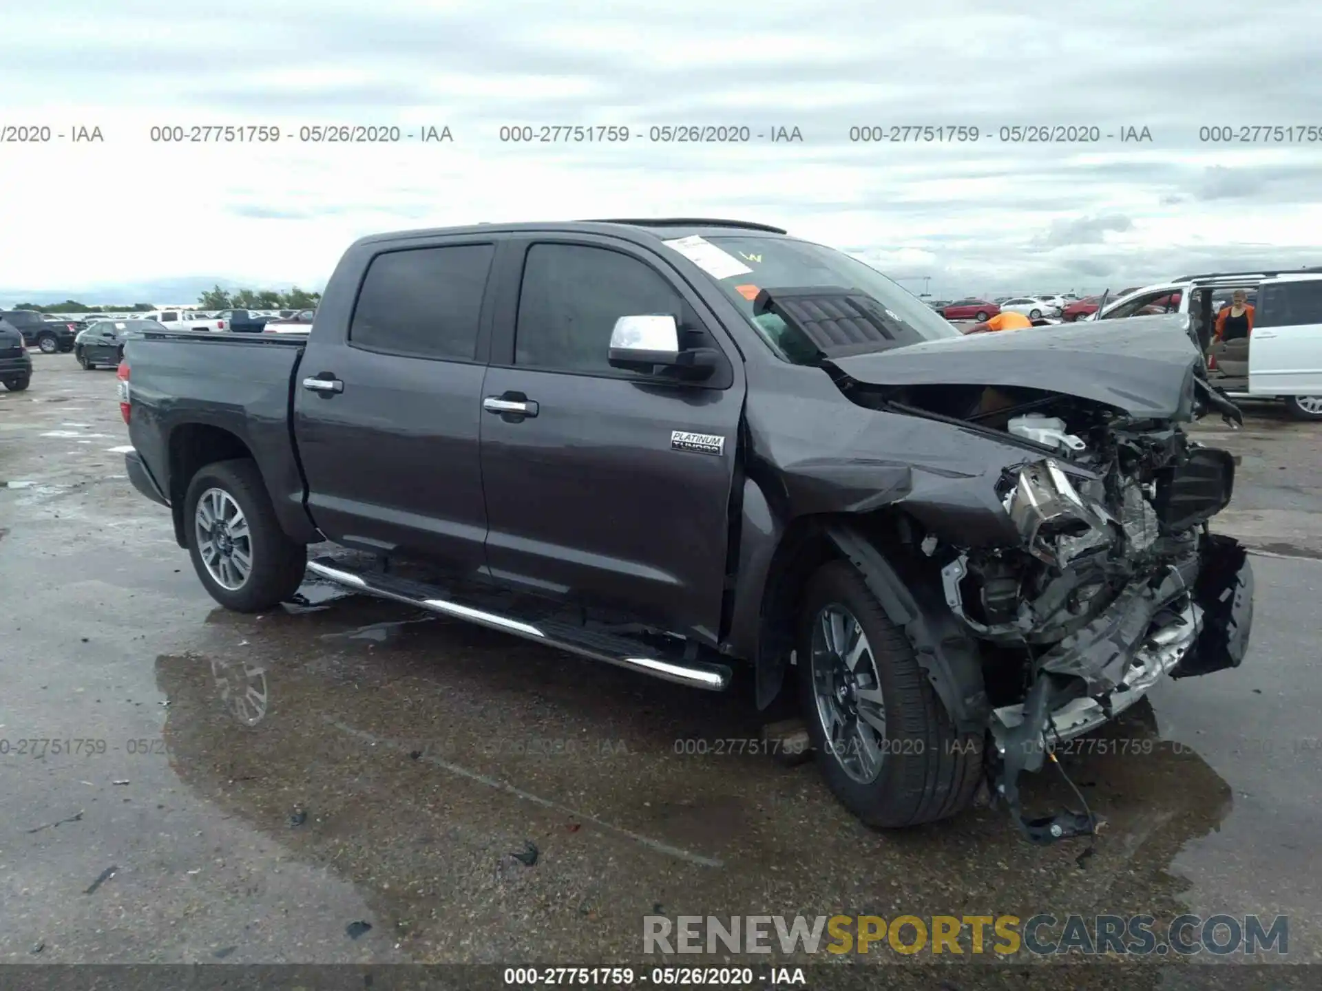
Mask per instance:
[[[524,262],[514,363],[619,375],[607,361],[615,321],[669,313],[691,326],[683,297],[639,259],[586,244],[533,244]]]

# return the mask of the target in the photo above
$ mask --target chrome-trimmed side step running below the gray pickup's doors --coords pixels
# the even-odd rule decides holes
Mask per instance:
[[[309,560],[308,572],[366,595],[391,599],[456,620],[467,620],[479,626],[512,633],[549,647],[567,650],[579,657],[602,661],[616,667],[627,667],[631,671],[640,671],[665,682],[705,691],[724,691],[730,687],[731,671],[726,665],[649,657],[639,645],[624,637],[582,630],[563,622],[549,621],[534,626],[508,616],[440,599],[435,595],[440,589],[393,575],[361,575],[324,560]]]

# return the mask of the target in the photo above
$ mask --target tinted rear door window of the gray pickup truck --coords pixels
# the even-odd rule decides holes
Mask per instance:
[[[349,342],[418,358],[472,361],[494,244],[377,255],[358,292]]]

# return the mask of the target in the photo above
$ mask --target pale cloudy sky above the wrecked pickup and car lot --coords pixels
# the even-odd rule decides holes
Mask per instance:
[[[0,144],[0,304],[192,293],[197,279],[317,287],[362,234],[582,217],[776,223],[935,296],[1322,262],[1315,0],[0,11],[0,136],[52,128],[49,143]],[[342,124],[398,126],[402,140],[300,140]],[[152,140],[153,127],[193,126],[270,126],[280,139]],[[616,126],[629,139],[501,140],[524,126]],[[750,140],[652,140],[653,127],[683,126],[747,127]],[[981,137],[850,140],[906,126]],[[1101,140],[1001,140],[1043,126]],[[71,143],[78,127],[104,140]],[[453,140],[423,143],[426,127]],[[780,127],[802,140],[771,141]],[[1273,127],[1294,127],[1293,143]],[[1122,141],[1126,128],[1151,140]],[[1203,140],[1207,128],[1257,140]]]

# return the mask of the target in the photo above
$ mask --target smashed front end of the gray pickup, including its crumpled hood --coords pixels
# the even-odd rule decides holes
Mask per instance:
[[[912,495],[895,505],[923,530],[925,568],[978,643],[992,786],[1034,842],[1087,834],[1093,823],[1073,814],[1026,819],[1023,772],[1166,675],[1239,666],[1252,625],[1248,555],[1208,526],[1231,501],[1233,459],[1179,425],[1237,410],[1206,399],[1187,341],[1157,333],[1147,340],[1155,354],[1129,370],[1088,330],[1022,330],[1013,344],[941,342],[832,367],[859,406],[999,435],[1019,452],[977,482],[994,488],[990,511],[1017,539],[970,539]],[[1063,337],[1034,351],[1035,333]]]

